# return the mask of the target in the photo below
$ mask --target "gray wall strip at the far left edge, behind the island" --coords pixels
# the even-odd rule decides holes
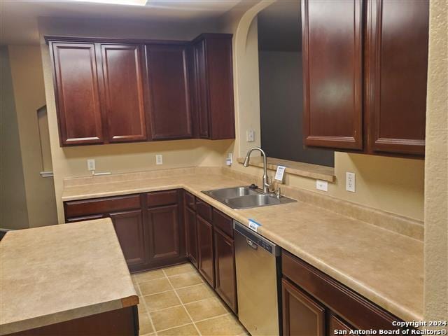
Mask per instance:
[[[8,48],[0,46],[0,228],[28,228],[25,180]]]

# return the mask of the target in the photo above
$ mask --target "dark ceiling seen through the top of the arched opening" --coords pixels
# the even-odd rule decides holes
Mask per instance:
[[[258,13],[258,49],[302,50],[300,0],[279,0]]]

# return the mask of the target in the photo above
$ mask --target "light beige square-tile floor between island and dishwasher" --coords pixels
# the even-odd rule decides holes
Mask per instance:
[[[140,335],[248,335],[190,263],[132,274]]]

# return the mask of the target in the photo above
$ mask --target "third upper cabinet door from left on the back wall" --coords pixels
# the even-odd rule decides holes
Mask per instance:
[[[146,45],[151,137],[193,136],[186,45]]]

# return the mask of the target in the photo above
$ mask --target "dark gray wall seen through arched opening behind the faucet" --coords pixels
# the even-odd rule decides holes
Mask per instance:
[[[259,52],[261,146],[271,158],[334,167],[333,151],[304,148],[302,52]]]

